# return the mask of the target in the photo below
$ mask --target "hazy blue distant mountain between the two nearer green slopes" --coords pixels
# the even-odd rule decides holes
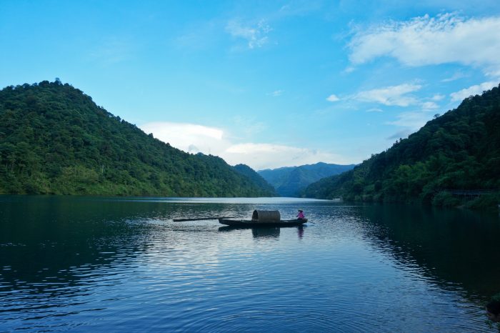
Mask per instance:
[[[300,197],[301,192],[307,185],[317,182],[319,179],[334,174],[341,174],[354,167],[354,164],[306,164],[300,167],[283,167],[278,169],[260,170],[259,174],[274,186],[281,197]]]

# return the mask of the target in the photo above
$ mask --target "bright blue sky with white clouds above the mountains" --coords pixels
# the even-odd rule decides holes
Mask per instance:
[[[500,1],[0,0],[0,88],[57,77],[229,164],[355,164],[500,83]]]

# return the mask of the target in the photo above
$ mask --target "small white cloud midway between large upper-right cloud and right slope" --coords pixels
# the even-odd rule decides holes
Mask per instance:
[[[419,84],[399,84],[380,89],[361,91],[351,98],[358,101],[376,102],[387,106],[409,106],[418,104],[418,99],[408,94],[421,89]]]

